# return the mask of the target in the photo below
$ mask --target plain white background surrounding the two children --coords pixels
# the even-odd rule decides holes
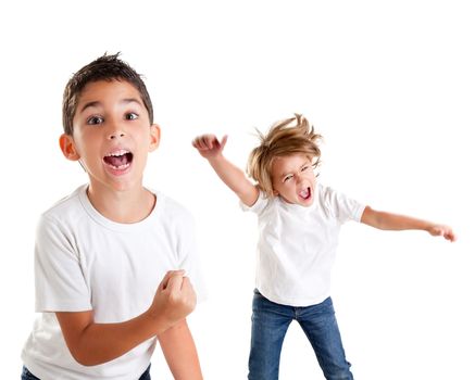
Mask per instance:
[[[472,1],[10,1],[0,5],[1,378],[20,378],[34,314],[41,211],[86,181],[58,148],[72,73],[104,52],[139,73],[162,145],[146,183],[198,223],[208,301],[190,317],[207,379],[245,379],[257,221],[190,145],[229,134],[245,167],[253,128],[303,113],[324,136],[321,180],[375,208],[453,226],[348,224],[333,297],[360,380],[472,379],[475,10]],[[171,379],[160,351],[154,379]],[[280,379],[323,379],[298,325]]]

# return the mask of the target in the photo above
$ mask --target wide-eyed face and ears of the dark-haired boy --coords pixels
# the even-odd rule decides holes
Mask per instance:
[[[160,141],[138,90],[126,80],[93,81],[79,96],[73,136],[62,135],[64,155],[79,161],[92,188],[141,188],[148,153]]]

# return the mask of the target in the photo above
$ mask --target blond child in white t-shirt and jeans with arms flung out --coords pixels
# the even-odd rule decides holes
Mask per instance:
[[[280,350],[296,319],[310,340],[326,379],[351,380],[329,296],[330,269],[338,232],[347,220],[379,229],[421,229],[455,239],[448,226],[377,212],[315,181],[317,140],[301,116],[276,123],[249,156],[253,185],[223,156],[227,138],[193,140],[218,177],[238,195],[242,207],[258,214],[257,289],[252,303],[249,379],[276,380]]]

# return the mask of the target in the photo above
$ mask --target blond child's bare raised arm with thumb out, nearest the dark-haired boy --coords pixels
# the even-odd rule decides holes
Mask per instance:
[[[223,155],[226,141],[227,136],[218,141],[214,135],[202,135],[192,141],[192,145],[208,160],[217,176],[239,197],[241,202],[247,206],[252,206],[259,198],[259,190],[240,168]]]

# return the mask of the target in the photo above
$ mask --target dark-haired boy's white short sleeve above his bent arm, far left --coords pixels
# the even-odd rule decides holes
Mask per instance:
[[[74,238],[58,220],[42,216],[35,243],[36,312],[92,308]]]

